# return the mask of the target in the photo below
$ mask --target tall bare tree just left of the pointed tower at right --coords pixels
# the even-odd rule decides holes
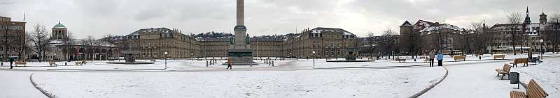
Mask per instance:
[[[521,23],[521,14],[512,12],[510,15],[507,15],[507,22],[511,24],[510,33],[511,33],[511,41],[513,46],[513,55],[517,55],[515,52],[515,42],[517,41],[517,25]]]

